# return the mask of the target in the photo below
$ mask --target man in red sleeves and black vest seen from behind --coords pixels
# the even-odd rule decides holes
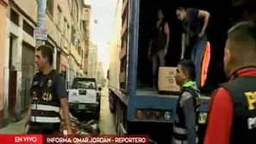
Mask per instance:
[[[204,144],[256,143],[256,25],[230,28],[224,51],[229,81],[212,96]]]

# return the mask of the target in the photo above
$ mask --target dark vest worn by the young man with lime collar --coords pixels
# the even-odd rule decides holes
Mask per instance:
[[[195,107],[195,112],[196,112],[196,122],[198,122],[198,114],[199,111],[198,108],[200,106],[200,103],[198,101],[199,99],[199,94],[197,94],[195,92],[195,90],[191,87],[183,87],[182,88],[182,93],[184,92],[188,92],[192,95],[192,97],[194,98],[194,107]],[[181,93],[181,95],[182,95]],[[173,138],[175,138],[178,141],[186,141],[187,140],[187,129],[185,126],[185,119],[184,119],[184,111],[182,106],[180,105],[179,101],[181,99],[181,96],[178,98],[178,103],[176,106],[176,119],[174,121],[174,125],[173,125]],[[198,124],[198,123],[197,123]],[[175,130],[178,129],[178,130]]]

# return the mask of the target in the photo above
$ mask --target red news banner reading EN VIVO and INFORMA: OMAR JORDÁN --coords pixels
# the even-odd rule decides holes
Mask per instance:
[[[149,144],[147,135],[0,135],[4,144]]]

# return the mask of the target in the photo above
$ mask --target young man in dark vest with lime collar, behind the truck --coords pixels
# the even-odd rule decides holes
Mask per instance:
[[[173,123],[172,144],[196,144],[197,109],[199,107],[199,90],[195,79],[195,66],[190,60],[178,63],[176,82],[182,93],[178,97],[176,118]]]

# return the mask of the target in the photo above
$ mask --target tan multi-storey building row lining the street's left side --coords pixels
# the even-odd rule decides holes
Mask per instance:
[[[0,6],[1,12],[3,11],[2,20],[5,20],[6,25],[4,37],[0,38],[0,45],[1,39],[4,39],[4,51],[1,55],[5,53],[3,79],[0,79],[3,80],[0,83],[3,83],[4,99],[0,103],[4,104],[4,117],[8,117],[10,112],[20,113],[28,106],[29,87],[36,69],[34,50],[38,43],[33,35],[37,7],[36,0],[9,0],[9,7],[4,15],[4,10]],[[53,68],[65,75],[66,81],[72,81],[76,75],[84,75],[84,8],[82,0],[47,0],[47,41],[44,45],[53,48]],[[0,31],[1,27],[3,26],[0,25]]]

